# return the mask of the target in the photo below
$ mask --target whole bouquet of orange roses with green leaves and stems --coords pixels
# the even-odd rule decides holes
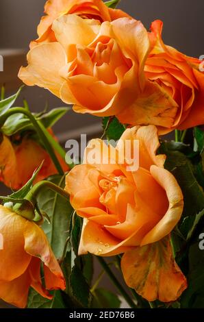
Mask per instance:
[[[1,90],[0,298],[19,308],[203,307],[202,63],[118,2],[47,1],[18,75],[101,117],[81,164],[51,130],[68,108],[34,114]]]

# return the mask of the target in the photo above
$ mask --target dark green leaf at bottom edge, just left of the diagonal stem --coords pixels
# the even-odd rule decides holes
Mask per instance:
[[[118,295],[105,290],[105,288],[97,288],[93,292],[92,308],[120,308],[121,301]]]

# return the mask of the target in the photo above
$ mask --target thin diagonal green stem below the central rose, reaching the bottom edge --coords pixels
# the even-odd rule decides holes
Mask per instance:
[[[116,279],[114,273],[112,273],[110,267],[107,265],[107,263],[105,262],[105,260],[103,260],[103,258],[100,257],[100,256],[97,256],[97,259],[99,260],[99,263],[103,267],[104,271],[110,277],[110,280],[112,281],[112,283],[114,284],[114,286],[116,286],[116,288],[118,288],[118,290],[120,291],[121,295],[123,295],[125,301],[127,301],[127,304],[129,304],[129,306],[131,308],[137,308],[136,304],[133,302],[133,300],[131,299],[131,297],[127,294],[127,292],[125,291],[125,289],[123,288],[123,286],[118,282],[118,280]]]

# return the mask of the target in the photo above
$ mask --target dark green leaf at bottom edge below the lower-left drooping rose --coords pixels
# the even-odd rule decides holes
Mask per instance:
[[[53,299],[50,300],[42,297],[34,288],[30,288],[27,308],[66,308],[66,306],[64,305],[60,290],[55,290],[53,292]]]

